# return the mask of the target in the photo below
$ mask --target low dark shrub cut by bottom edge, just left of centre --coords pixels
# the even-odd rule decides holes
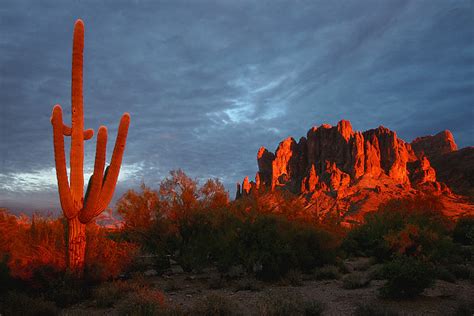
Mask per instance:
[[[220,295],[209,295],[205,299],[198,301],[190,311],[191,315],[203,316],[230,316],[237,315],[237,306]]]

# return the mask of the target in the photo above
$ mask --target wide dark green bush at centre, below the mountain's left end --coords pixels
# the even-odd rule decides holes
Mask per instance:
[[[180,221],[173,247],[187,271],[217,265],[221,272],[241,265],[262,280],[278,280],[290,270],[309,272],[332,263],[336,238],[307,223],[281,216],[228,210],[200,211]]]

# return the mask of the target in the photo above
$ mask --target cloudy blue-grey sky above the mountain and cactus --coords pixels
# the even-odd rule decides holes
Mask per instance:
[[[473,1],[2,0],[0,207],[59,214],[49,119],[61,104],[70,122],[78,18],[85,128],[108,127],[108,160],[131,115],[115,200],[178,168],[233,196],[260,146],[341,119],[474,145]]]

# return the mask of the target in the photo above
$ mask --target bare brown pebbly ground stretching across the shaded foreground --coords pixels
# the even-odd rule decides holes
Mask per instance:
[[[346,268],[347,273],[336,279],[317,280],[314,275],[294,274],[276,283],[237,276],[238,271],[233,276],[222,276],[215,270],[199,274],[176,271],[178,273],[157,276],[150,270],[142,273],[141,277],[142,282],[144,278],[152,289],[164,293],[167,306],[191,315],[195,314],[196,306],[208,299],[231,306],[236,315],[274,315],[271,311],[281,310],[285,304],[290,308],[284,314],[292,315],[292,308],[304,302],[320,303],[323,315],[354,315],[360,306],[371,308],[372,312],[379,311],[380,315],[455,315],[460,306],[472,306],[474,303],[472,280],[457,280],[454,283],[437,280],[432,288],[426,289],[416,299],[389,300],[378,295],[378,289],[385,281],[370,280],[377,265],[371,265],[367,258],[359,258],[346,262]],[[344,279],[353,274],[370,281],[362,288],[347,289]],[[62,314],[120,314],[116,307],[101,309],[96,306],[92,299],[64,310]]]

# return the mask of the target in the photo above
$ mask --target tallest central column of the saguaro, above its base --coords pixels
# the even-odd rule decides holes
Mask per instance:
[[[82,95],[84,50],[84,23],[77,20],[74,25],[72,49],[72,84],[71,84],[71,194],[79,209],[83,206],[84,193],[84,110]]]

